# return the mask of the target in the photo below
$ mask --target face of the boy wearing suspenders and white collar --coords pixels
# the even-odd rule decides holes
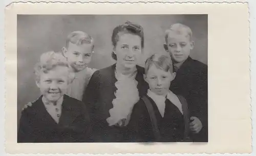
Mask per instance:
[[[174,80],[175,75],[176,73],[164,71],[153,64],[145,75],[145,81],[148,83],[148,86],[150,86],[152,92],[157,95],[165,96],[169,90],[170,82]]]

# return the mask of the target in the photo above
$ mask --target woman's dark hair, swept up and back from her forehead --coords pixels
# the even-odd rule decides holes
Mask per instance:
[[[127,34],[133,34],[133,35],[138,35],[141,38],[141,47],[144,47],[144,33],[143,33],[143,28],[141,27],[141,25],[130,22],[130,21],[126,21],[124,24],[122,25],[118,25],[114,30],[113,30],[113,34],[112,34],[112,44],[115,47],[118,40],[119,40],[119,33],[123,32],[123,33],[127,33]],[[117,57],[115,55],[115,53],[112,51],[111,54],[112,58],[114,60],[117,60]]]

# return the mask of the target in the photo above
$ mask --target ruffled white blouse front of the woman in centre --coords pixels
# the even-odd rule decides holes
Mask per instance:
[[[125,126],[130,121],[130,116],[135,103],[139,101],[138,82],[135,80],[137,71],[133,74],[124,75],[115,71],[117,88],[116,98],[113,99],[113,108],[110,109],[110,117],[106,119],[110,126]]]

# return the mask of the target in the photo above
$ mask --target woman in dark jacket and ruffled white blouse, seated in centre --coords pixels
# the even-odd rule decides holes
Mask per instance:
[[[117,62],[91,77],[83,102],[89,109],[93,142],[127,142],[133,106],[147,91],[144,68],[137,65],[144,47],[140,25],[125,22],[113,30],[112,57]]]

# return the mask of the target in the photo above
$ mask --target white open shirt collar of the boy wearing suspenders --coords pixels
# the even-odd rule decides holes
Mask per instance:
[[[150,89],[148,89],[147,96],[151,97],[154,100],[162,117],[164,117],[166,98],[169,101],[171,101],[179,109],[179,111],[183,114],[181,102],[180,102],[179,98],[177,97],[177,95],[175,95],[172,91],[169,90],[168,93],[165,96],[163,96],[163,95],[157,95],[156,93],[154,93]]]

